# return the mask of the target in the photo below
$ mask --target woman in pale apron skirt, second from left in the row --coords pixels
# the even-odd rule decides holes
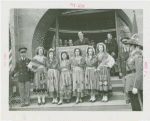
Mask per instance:
[[[52,48],[47,53],[46,69],[48,77],[47,91],[49,96],[53,98],[52,104],[57,104],[59,96],[59,60],[56,59]]]

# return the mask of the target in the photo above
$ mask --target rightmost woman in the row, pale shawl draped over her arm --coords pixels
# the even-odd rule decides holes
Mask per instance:
[[[103,95],[102,102],[108,101],[110,84],[110,68],[115,64],[115,60],[106,52],[106,45],[103,43],[97,44],[97,90]]]

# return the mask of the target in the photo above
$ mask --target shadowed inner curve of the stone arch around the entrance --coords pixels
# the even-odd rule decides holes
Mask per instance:
[[[32,40],[32,56],[35,55],[35,49],[36,47],[38,46],[43,46],[45,43],[44,41],[47,39],[47,31],[49,30],[49,28],[52,26],[53,23],[55,23],[56,21],[56,18],[60,15],[62,15],[62,13],[64,12],[69,12],[69,11],[72,11],[72,9],[49,9],[44,15],[43,17],[40,19],[36,29],[35,29],[35,32],[34,32],[34,35],[33,35],[33,40]],[[73,10],[75,11],[75,9]],[[80,11],[79,10],[76,10],[76,11]],[[89,11],[93,11],[93,10],[89,10]],[[99,12],[103,12],[104,10],[102,9],[99,9]],[[113,10],[114,11],[114,10]],[[82,12],[82,11],[81,11]],[[116,16],[119,17],[129,28],[129,30],[131,31],[131,26],[132,26],[132,23],[129,19],[129,17],[125,14],[125,12],[121,9],[117,9],[115,10],[115,18]],[[72,13],[70,12],[70,15]],[[117,25],[117,22],[116,22],[116,25]],[[119,27],[118,27],[119,29]],[[122,32],[122,30],[120,29],[120,33]],[[119,38],[119,31],[117,32],[117,36],[116,38]],[[49,34],[48,36],[49,37],[53,37],[53,34],[52,33],[51,35]],[[52,39],[51,39],[52,41]],[[50,43],[47,43],[47,45],[51,44],[51,41],[49,41]]]

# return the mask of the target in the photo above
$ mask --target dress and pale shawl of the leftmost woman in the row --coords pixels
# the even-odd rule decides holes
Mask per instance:
[[[47,84],[41,84],[41,81],[46,80],[46,57],[44,55],[36,55],[33,60],[33,62],[38,63],[40,66],[36,69],[35,75],[34,75],[34,86],[36,88],[37,93],[45,93],[47,91]],[[46,82],[46,81],[45,81]]]

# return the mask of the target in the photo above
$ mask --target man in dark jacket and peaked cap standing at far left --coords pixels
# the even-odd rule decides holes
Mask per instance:
[[[26,51],[26,47],[19,49],[21,58],[16,62],[15,69],[11,73],[12,78],[14,78],[14,75],[19,72],[18,82],[21,107],[29,106],[30,104],[30,81],[33,77],[31,71],[27,67],[30,63],[30,59],[26,58]]]

